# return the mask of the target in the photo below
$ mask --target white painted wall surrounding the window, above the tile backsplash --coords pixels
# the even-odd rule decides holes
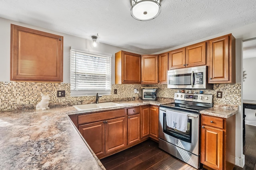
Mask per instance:
[[[36,27],[33,25],[28,25],[12,20],[6,20],[0,18],[0,82],[10,82],[10,24],[20,25],[23,27],[28,27],[32,29],[37,29],[39,31],[44,31],[48,33],[53,33],[57,35],[62,35],[64,38],[64,48],[63,48],[63,83],[70,83],[70,46],[72,49],[85,51],[86,49],[90,51],[99,51],[101,53],[112,54],[112,84],[115,83],[115,53],[124,50],[132,53],[143,54],[136,51],[131,51],[128,49],[123,49],[120,47],[107,45],[100,43],[98,47],[92,48],[90,42],[92,40],[83,39],[80,37],[75,37],[72,35],[51,31],[41,27]]]

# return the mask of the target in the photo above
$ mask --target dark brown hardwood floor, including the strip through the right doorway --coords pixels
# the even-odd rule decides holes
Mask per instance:
[[[246,125],[245,166],[234,170],[256,170],[256,127]],[[100,160],[107,170],[196,170],[147,140]]]

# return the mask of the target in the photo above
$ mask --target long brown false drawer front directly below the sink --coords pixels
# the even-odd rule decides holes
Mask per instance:
[[[126,116],[125,109],[114,110],[114,111],[104,111],[100,113],[92,113],[87,115],[78,116],[78,124],[90,123],[95,121],[107,120],[116,117]]]

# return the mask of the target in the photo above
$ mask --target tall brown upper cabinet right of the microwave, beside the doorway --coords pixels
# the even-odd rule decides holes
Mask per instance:
[[[236,39],[232,34],[209,41],[209,83],[236,82]]]

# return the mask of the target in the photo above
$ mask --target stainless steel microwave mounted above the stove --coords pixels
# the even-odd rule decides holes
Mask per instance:
[[[207,81],[207,66],[168,70],[167,76],[168,88],[213,89],[213,84]]]

